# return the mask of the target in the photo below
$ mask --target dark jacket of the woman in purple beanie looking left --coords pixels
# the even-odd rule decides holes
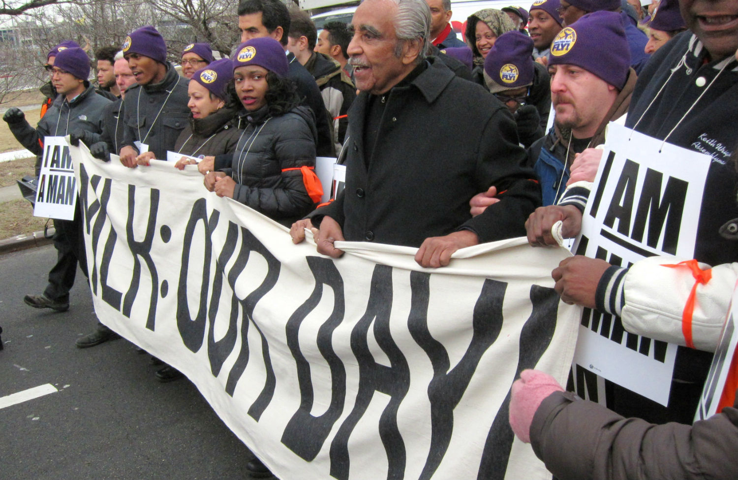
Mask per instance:
[[[236,128],[237,114],[238,109],[229,106],[204,118],[193,118],[190,114],[173,151],[190,157],[232,154],[241,134]]]

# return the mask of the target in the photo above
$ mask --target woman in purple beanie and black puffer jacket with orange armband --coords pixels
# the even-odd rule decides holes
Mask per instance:
[[[230,167],[207,174],[205,187],[292,224],[323,195],[314,171],[314,115],[299,106],[287,78],[286,55],[274,38],[245,41],[233,55],[232,69],[246,126],[230,155]],[[216,157],[215,165],[221,163]]]

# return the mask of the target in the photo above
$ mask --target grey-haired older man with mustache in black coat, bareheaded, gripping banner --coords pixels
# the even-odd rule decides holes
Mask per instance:
[[[483,87],[425,56],[427,3],[365,0],[351,28],[361,93],[348,113],[345,191],[293,224],[293,241],[318,227],[318,252],[334,258],[343,253],[336,240],[373,241],[420,247],[418,264],[443,267],[460,248],[520,235],[540,191],[523,167],[513,117]],[[467,202],[490,185],[505,191],[500,202],[471,218]]]

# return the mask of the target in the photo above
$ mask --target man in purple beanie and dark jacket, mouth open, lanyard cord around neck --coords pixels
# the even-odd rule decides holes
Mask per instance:
[[[123,56],[137,84],[125,95],[120,162],[135,168],[146,151],[167,157],[187,125],[187,83],[167,61],[167,45],[154,27],[141,27],[125,38]]]

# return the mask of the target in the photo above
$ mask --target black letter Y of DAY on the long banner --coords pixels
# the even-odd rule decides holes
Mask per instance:
[[[500,335],[503,326],[503,301],[507,283],[484,281],[472,318],[472,341],[459,363],[449,371],[449,356],[444,346],[430,335],[427,322],[429,278],[427,273],[412,272],[412,304],[408,328],[418,346],[428,355],[433,366],[433,378],[428,385],[430,400],[430,450],[420,479],[430,479],[451,442],[454,427],[454,409],[461,401],[479,360]]]

